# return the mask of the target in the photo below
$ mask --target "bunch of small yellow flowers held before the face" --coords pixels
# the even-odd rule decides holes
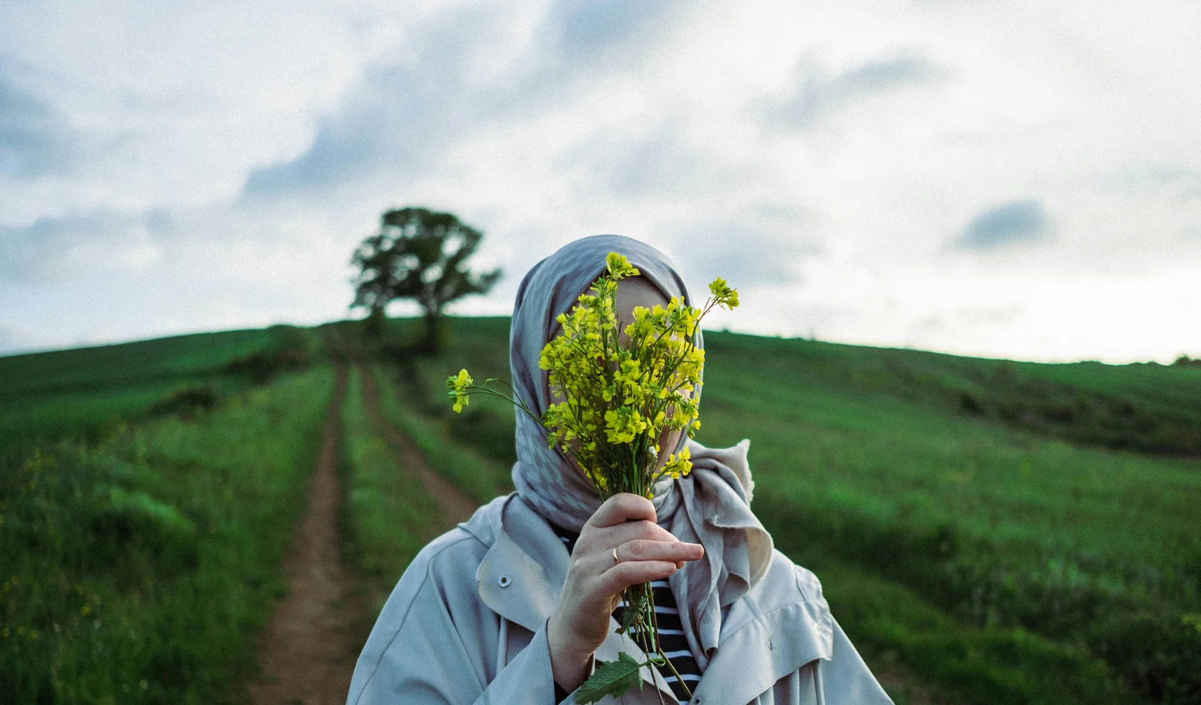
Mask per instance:
[[[717,279],[709,285],[711,295],[703,307],[673,297],[665,307],[635,306],[633,321],[622,328],[617,282],[639,274],[626,257],[610,252],[600,279],[580,294],[569,313],[558,316],[562,333],[546,343],[538,360],[549,374],[556,402],[540,418],[512,388],[491,387],[503,381],[476,384],[467,370],[447,380],[454,411],[462,411],[472,394],[512,402],[542,424],[549,446],[558,446],[575,460],[602,501],[619,492],[650,500],[661,478],[687,476],[692,470],[688,448],[669,452],[664,459],[659,444],[674,431],[692,436],[700,428],[697,392],[705,351],[695,345],[697,330],[713,306],[737,306],[739,294]],[[639,669],[652,664],[675,671],[659,646],[650,584],[627,587],[622,599],[620,632],[638,644],[647,661],[639,663],[622,652],[617,661],[602,662],[576,692],[576,703],[594,703],[607,694],[620,695],[634,683],[641,686]]]

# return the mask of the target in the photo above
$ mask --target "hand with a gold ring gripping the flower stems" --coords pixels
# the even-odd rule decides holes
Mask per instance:
[[[546,625],[555,682],[570,692],[587,677],[592,652],[609,635],[609,616],[622,590],[667,578],[704,555],[700,544],[683,543],[655,524],[650,500],[625,492],[609,497],[580,531],[563,592]]]

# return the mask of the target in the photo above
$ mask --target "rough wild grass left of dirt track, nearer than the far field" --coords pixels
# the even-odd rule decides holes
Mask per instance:
[[[331,387],[315,369],[0,474],[0,692],[237,700]]]

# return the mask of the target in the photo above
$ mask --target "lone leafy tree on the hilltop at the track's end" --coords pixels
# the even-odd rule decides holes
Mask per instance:
[[[450,301],[492,288],[500,269],[473,274],[467,258],[484,234],[449,213],[425,208],[389,210],[380,232],[364,239],[351,263],[359,268],[354,303],[370,310],[368,328],[378,331],[384,307],[395,299],[413,299],[425,311],[423,347],[438,346],[438,319]]]

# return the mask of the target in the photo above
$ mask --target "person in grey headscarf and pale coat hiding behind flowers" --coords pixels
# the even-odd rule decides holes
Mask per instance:
[[[695,305],[668,258],[631,238],[584,238],[539,262],[518,289],[509,334],[513,387],[534,413],[552,399],[538,353],[609,252],[641,273],[619,286],[625,319],[635,304],[673,295]],[[891,703],[817,576],[775,550],[752,513],[748,441],[715,449],[669,440],[664,448],[688,443],[691,474],[661,480],[653,501],[604,503],[521,413],[515,441],[516,490],[413,558],[363,647],[347,705],[574,703],[598,659],[643,659],[614,613],[619,593],[645,581],[675,668],[644,668],[641,688],[603,701]]]

